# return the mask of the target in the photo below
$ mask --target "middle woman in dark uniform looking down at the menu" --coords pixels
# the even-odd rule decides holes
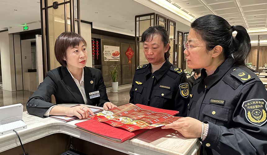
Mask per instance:
[[[149,64],[137,67],[129,103],[177,110],[186,116],[189,90],[186,75],[168,60],[169,35],[162,25],[152,26],[142,34],[143,51]]]

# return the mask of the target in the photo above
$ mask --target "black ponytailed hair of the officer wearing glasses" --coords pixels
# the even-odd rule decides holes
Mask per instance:
[[[206,45],[209,45],[206,47],[207,50],[219,45],[223,47],[225,59],[233,57],[234,64],[246,66],[245,60],[249,55],[251,43],[243,26],[231,26],[224,18],[217,15],[204,15],[194,20],[191,28],[201,35]],[[237,31],[235,37],[233,31]]]

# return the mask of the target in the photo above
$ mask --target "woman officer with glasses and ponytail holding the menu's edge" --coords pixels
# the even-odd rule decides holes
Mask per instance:
[[[247,30],[204,15],[191,23],[184,47],[188,67],[203,68],[201,77],[192,88],[188,117],[162,128],[199,138],[201,154],[266,155],[267,92],[245,65],[251,49]]]

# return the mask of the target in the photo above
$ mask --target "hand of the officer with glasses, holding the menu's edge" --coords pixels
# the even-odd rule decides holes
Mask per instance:
[[[206,124],[204,123],[204,129]],[[202,122],[192,117],[184,117],[176,122],[162,126],[161,129],[172,128],[180,132],[185,138],[199,138],[202,134]]]

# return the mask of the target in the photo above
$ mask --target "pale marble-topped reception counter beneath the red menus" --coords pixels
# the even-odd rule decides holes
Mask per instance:
[[[73,105],[74,104],[61,104],[61,106],[68,107]],[[29,115],[27,111],[25,111],[23,112],[23,121],[27,124],[27,128],[19,130],[18,134],[20,135],[20,139],[23,144],[31,143],[49,135],[61,133],[131,155],[194,155],[201,145],[197,138],[184,138],[179,132],[173,129],[163,130],[160,127],[147,130],[142,134],[137,135],[134,138],[129,139],[121,144],[114,143],[109,140],[75,129],[75,123],[86,120],[87,119],[77,119],[70,122],[62,122],[49,117],[42,118]],[[46,140],[46,143],[47,142],[48,140]],[[14,132],[0,135],[0,154],[1,152],[13,148],[21,149],[17,135]],[[29,148],[37,149],[31,147]],[[25,149],[25,153],[26,152],[27,150]]]

